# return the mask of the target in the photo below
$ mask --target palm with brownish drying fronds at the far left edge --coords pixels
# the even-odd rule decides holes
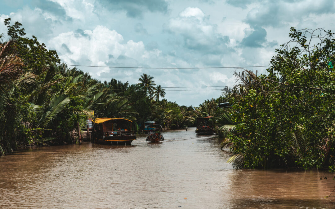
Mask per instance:
[[[12,150],[17,146],[16,137],[19,131],[15,123],[27,124],[24,116],[13,107],[16,106],[18,90],[24,91],[28,85],[34,82],[35,75],[23,74],[23,62],[13,51],[13,42],[2,42],[0,34],[0,155]],[[22,97],[21,97],[22,98]]]

